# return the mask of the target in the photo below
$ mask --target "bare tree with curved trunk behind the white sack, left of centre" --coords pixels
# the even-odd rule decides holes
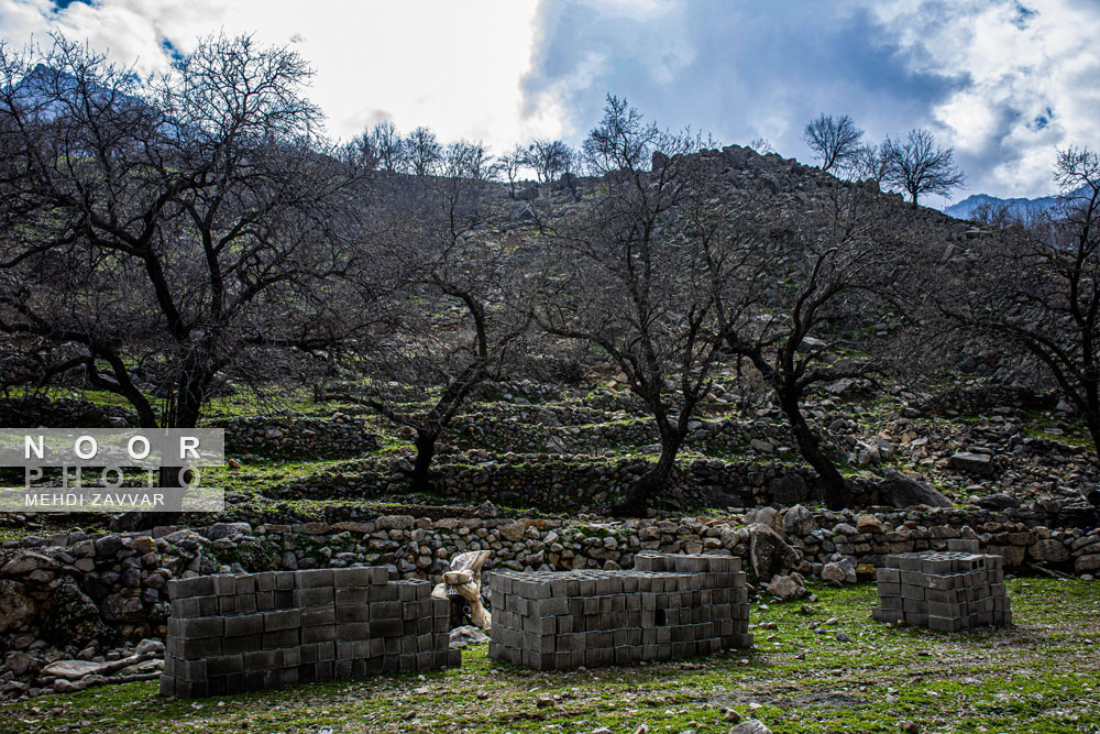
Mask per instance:
[[[522,354],[536,287],[481,210],[493,173],[484,146],[453,143],[441,165],[438,176],[391,182],[388,233],[349,278],[372,300],[380,281],[391,286],[384,330],[361,341],[356,364],[385,379],[369,405],[414,432],[417,491],[435,489],[436,446],[477,386]]]

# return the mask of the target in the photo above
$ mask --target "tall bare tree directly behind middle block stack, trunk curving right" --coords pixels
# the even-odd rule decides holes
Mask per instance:
[[[724,217],[683,216],[698,205],[697,141],[644,121],[625,99],[608,96],[583,151],[598,176],[592,206],[542,222],[557,287],[541,320],[605,351],[657,423],[660,458],[615,508],[638,514],[668,482],[718,359],[711,283],[728,271],[711,249]]]

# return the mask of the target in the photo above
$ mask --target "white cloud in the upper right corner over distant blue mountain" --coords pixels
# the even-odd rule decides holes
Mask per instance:
[[[1100,142],[1100,12],[1075,0],[877,3],[922,72],[966,83],[930,110],[971,190],[1037,196],[1055,151]]]

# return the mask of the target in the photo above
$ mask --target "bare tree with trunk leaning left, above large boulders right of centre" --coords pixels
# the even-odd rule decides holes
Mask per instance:
[[[751,193],[738,193],[739,196]],[[848,506],[851,487],[803,413],[816,388],[881,369],[879,359],[835,360],[860,344],[861,326],[883,318],[888,292],[903,249],[882,237],[890,228],[871,210],[864,189],[834,180],[811,210],[777,211],[759,194],[743,205],[752,211],[745,276],[716,282],[727,349],[747,359],[782,409],[803,459],[817,472],[826,504]],[[765,198],[767,196],[765,195]],[[838,324],[846,322],[846,328]]]

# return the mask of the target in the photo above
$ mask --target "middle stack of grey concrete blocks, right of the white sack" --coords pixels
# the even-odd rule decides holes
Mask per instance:
[[[639,555],[632,571],[495,571],[490,657],[539,670],[750,647],[740,559]]]

